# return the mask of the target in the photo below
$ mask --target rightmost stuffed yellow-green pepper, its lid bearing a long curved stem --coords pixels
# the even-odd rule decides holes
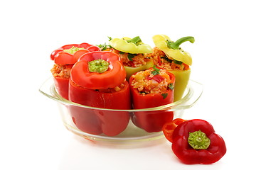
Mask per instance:
[[[189,66],[192,64],[191,55],[179,47],[181,43],[189,41],[193,43],[193,37],[184,37],[173,42],[167,35],[154,35],[154,44],[156,47],[152,52],[154,64],[157,67],[167,69],[175,75],[174,101],[182,98],[183,93],[188,85],[191,74]]]

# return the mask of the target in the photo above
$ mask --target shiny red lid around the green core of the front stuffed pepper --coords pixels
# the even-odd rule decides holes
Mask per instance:
[[[110,65],[106,72],[90,72],[88,62],[105,60]],[[122,84],[126,72],[119,56],[113,52],[95,51],[85,53],[71,69],[70,78],[75,84],[87,89],[109,89]]]

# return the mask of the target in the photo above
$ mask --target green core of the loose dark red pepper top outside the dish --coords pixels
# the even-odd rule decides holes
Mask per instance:
[[[188,144],[193,149],[207,149],[210,146],[210,139],[201,130],[189,132]]]

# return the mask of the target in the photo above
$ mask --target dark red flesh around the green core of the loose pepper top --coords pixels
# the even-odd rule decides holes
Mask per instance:
[[[210,139],[210,146],[207,149],[193,149],[188,144],[189,132],[198,130]],[[184,164],[213,164],[218,162],[227,150],[223,138],[215,133],[213,126],[201,119],[187,120],[178,125],[173,133],[171,148]]]

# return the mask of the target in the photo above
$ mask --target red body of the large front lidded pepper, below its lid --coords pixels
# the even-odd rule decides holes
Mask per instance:
[[[97,108],[130,109],[130,92],[127,81],[124,88],[113,93],[105,93],[78,86],[70,79],[69,100]],[[90,134],[107,136],[118,135],[127,128],[129,113],[125,111],[100,111],[87,108],[70,107],[75,125]]]

